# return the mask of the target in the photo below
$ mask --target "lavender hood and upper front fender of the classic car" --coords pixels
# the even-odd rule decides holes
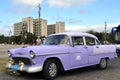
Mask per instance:
[[[9,50],[14,56],[29,56],[30,51],[35,55],[51,55],[68,53],[68,46],[64,45],[42,45],[42,46],[28,46]]]

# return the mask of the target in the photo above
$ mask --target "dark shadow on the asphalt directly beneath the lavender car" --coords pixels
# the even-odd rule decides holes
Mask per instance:
[[[57,78],[60,77],[69,77],[69,76],[74,76],[74,75],[80,75],[83,73],[88,73],[88,72],[93,72],[96,71],[97,68],[96,66],[90,66],[90,67],[84,67],[84,68],[79,68],[79,69],[74,69],[74,70],[69,70],[69,71],[63,71],[59,73]],[[19,78],[21,80],[45,80],[44,77],[42,76],[42,73],[20,73],[20,74],[8,74],[12,77]],[[57,80],[57,79],[56,79]]]

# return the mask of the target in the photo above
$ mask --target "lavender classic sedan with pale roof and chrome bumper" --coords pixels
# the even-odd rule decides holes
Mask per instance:
[[[92,34],[64,32],[49,35],[39,46],[8,50],[6,68],[19,72],[42,72],[46,79],[54,79],[58,72],[97,65],[107,68],[108,60],[114,59],[114,45],[101,45]]]

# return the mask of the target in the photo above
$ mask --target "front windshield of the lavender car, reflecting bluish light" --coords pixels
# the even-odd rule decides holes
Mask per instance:
[[[48,36],[43,45],[69,45],[69,38],[66,35],[52,35]]]

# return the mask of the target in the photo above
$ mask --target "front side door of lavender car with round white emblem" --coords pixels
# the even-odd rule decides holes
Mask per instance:
[[[71,68],[78,68],[88,64],[88,53],[81,36],[72,37],[73,46],[70,47]]]

